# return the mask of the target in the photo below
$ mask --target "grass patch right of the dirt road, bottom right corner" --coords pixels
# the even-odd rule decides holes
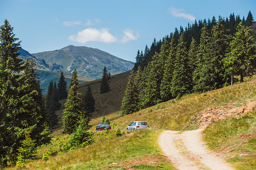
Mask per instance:
[[[237,169],[256,167],[256,108],[239,117],[213,122],[203,133],[210,149],[224,152]]]

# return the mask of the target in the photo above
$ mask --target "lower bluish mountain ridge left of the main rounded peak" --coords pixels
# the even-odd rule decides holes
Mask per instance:
[[[63,66],[57,65],[56,63],[47,64],[46,61],[44,61],[44,59],[37,59],[35,56],[33,56],[32,54],[30,54],[24,49],[20,49],[19,53],[20,53],[19,58],[23,59],[24,61],[27,58],[34,60],[36,64],[35,65],[36,73],[39,74],[39,79],[41,82],[40,87],[43,90],[42,91],[43,94],[47,94],[49,82],[55,81],[56,83],[58,83],[61,71],[64,72],[65,81],[67,82],[67,86],[69,86],[72,75],[68,71],[64,70]],[[93,79],[84,78],[81,76],[79,76],[78,79],[79,79],[79,83],[89,82],[93,80]]]

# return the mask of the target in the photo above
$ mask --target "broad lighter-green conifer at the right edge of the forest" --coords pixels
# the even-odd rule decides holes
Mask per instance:
[[[251,27],[243,26],[242,22],[238,24],[237,32],[230,42],[231,50],[225,58],[228,72],[232,76],[240,75],[240,82],[243,82],[243,76],[251,76],[256,71],[256,52],[251,31]]]

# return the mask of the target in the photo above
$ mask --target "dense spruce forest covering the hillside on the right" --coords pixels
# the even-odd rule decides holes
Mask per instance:
[[[252,22],[250,11],[246,20],[234,14],[229,20],[213,17],[154,40],[150,49],[146,45],[144,54],[138,50],[121,116],[192,92],[228,86],[236,75],[243,82],[244,76],[256,71]]]

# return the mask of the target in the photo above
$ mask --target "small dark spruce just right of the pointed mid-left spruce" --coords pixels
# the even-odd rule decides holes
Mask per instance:
[[[91,115],[90,113],[95,111],[95,99],[92,95],[92,90],[90,86],[88,86],[87,91],[85,93],[84,103],[85,103],[84,109],[86,112],[86,117],[89,118]]]

